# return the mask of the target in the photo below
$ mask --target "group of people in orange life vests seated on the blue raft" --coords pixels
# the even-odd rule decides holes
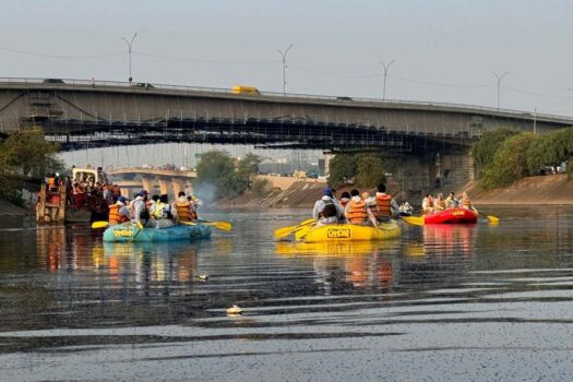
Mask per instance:
[[[109,205],[109,225],[132,222],[141,227],[167,228],[182,222],[198,220],[201,200],[180,191],[177,200],[169,203],[167,194],[148,198],[146,190],[136,193],[133,200],[119,196]]]

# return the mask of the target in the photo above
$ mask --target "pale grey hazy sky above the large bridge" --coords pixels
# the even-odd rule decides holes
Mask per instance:
[[[573,116],[573,1],[3,0],[0,76],[136,82]]]

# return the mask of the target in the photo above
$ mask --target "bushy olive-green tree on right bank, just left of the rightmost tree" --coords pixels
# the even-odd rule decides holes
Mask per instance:
[[[503,141],[493,160],[485,168],[480,184],[486,190],[508,187],[529,176],[527,152],[536,135],[530,132],[520,133]]]

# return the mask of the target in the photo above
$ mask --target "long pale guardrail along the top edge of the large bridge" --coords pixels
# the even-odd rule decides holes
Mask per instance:
[[[61,81],[61,82],[59,82]],[[186,85],[168,85],[148,82],[121,82],[121,81],[99,81],[99,80],[77,80],[77,79],[37,79],[37,77],[0,77],[0,85],[22,85],[31,84],[35,87],[68,87],[68,86],[91,86],[91,87],[121,87],[131,89],[165,89],[165,91],[179,91],[179,92],[206,92],[206,93],[218,93],[225,95],[244,96],[244,94],[234,93],[230,88],[220,87],[203,87],[203,86],[186,86]],[[571,122],[573,123],[573,117],[570,116],[558,116],[550,114],[534,114],[530,111],[515,110],[515,109],[498,109],[487,106],[476,106],[466,104],[454,104],[454,103],[434,103],[425,100],[398,100],[398,99],[386,99],[381,100],[377,98],[365,98],[365,97],[337,97],[337,96],[324,96],[324,95],[312,95],[312,94],[298,94],[298,93],[278,93],[278,92],[260,92],[262,96],[279,97],[279,98],[303,98],[303,99],[320,99],[331,100],[338,103],[353,103],[363,102],[372,104],[385,104],[385,105],[404,105],[404,106],[425,106],[425,107],[442,107],[442,108],[454,108],[464,109],[467,111],[481,111],[494,115],[506,115],[518,118],[527,119],[550,119],[556,121]],[[258,95],[249,95],[250,97],[256,97]],[[343,99],[345,98],[345,99]],[[347,99],[346,99],[347,98]]]

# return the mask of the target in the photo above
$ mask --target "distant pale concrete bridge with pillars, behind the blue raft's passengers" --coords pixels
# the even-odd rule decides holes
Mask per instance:
[[[192,181],[196,178],[193,170],[169,170],[153,167],[120,167],[107,171],[112,182],[121,188],[124,196],[131,198],[141,189],[151,194],[169,194],[171,198],[180,191],[191,192]]]

